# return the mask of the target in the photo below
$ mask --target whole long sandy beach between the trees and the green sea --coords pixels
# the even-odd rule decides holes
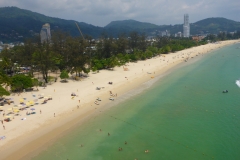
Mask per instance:
[[[5,104],[1,108],[4,111],[0,113],[0,120],[4,120],[3,114],[6,116],[11,112],[14,105],[20,105],[20,101],[25,104],[34,101],[37,104],[20,111],[17,116],[10,114],[14,118],[10,122],[3,121],[0,127],[0,137],[3,137],[0,140],[0,159],[26,159],[28,154],[37,154],[46,144],[53,143],[71,127],[104,112],[111,104],[118,103],[121,96],[143,83],[154,82],[157,77],[164,76],[178,64],[194,62],[194,59],[212,50],[238,42],[240,40],[210,43],[128,63],[124,67],[115,67],[114,70],[90,72],[89,77],[81,81],[69,79],[68,83],[61,83],[58,78],[57,82],[45,88],[38,87],[38,91],[35,89],[32,92],[7,96],[14,103]],[[71,96],[72,93],[76,96]],[[41,104],[47,97],[52,97],[52,100]],[[32,112],[35,114],[27,115]]]

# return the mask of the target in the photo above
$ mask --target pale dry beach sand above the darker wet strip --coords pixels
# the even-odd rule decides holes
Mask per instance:
[[[20,98],[26,98],[25,102],[27,102],[38,98],[37,95],[41,93],[44,93],[45,96],[52,95],[53,100],[49,100],[46,104],[30,107],[35,108],[36,114],[27,116],[26,112],[31,112],[29,108],[20,111],[21,116],[14,116],[11,122],[4,122],[5,130],[2,126],[0,127],[0,137],[5,136],[6,138],[0,140],[0,153],[4,153],[0,159],[11,155],[14,151],[20,149],[21,146],[33,141],[35,138],[41,137],[43,134],[63,125],[63,123],[58,122],[64,121],[67,117],[74,117],[73,115],[75,115],[75,117],[78,116],[84,119],[96,111],[99,112],[99,110],[104,109],[106,103],[112,103],[112,101],[109,100],[109,91],[117,94],[117,97],[113,97],[117,99],[119,96],[142,83],[164,74],[177,64],[181,62],[189,63],[189,61],[185,62],[187,58],[193,59],[193,57],[196,56],[203,56],[203,54],[211,50],[236,42],[239,42],[239,40],[198,46],[146,61],[128,63],[125,67],[128,68],[129,71],[124,71],[123,67],[115,67],[113,71],[101,70],[100,73],[90,73],[89,77],[82,81],[69,80],[68,83],[56,82],[48,85],[45,89],[39,87],[39,91],[22,93],[20,96],[17,94],[14,96],[11,95],[9,97],[14,99],[14,104],[16,105],[19,104]],[[110,85],[108,82],[113,82],[113,84]],[[104,88],[96,90],[96,87]],[[71,98],[72,92],[77,94],[74,99]],[[36,97],[33,97],[33,95],[36,95]],[[102,100],[99,101],[100,105],[94,104],[97,97],[100,97]],[[38,100],[38,102],[40,102],[40,100]],[[8,113],[8,108],[12,108],[14,104],[5,105],[3,107],[5,113]],[[79,108],[77,105],[79,105]],[[40,110],[42,112],[41,114]],[[22,118],[26,118],[26,120],[21,120]],[[0,120],[3,120],[3,112],[0,114]],[[57,123],[58,126],[54,127],[54,124]],[[47,128],[46,126],[48,130],[44,129]],[[41,134],[39,132],[40,130]],[[14,144],[16,144],[15,149],[13,148]]]

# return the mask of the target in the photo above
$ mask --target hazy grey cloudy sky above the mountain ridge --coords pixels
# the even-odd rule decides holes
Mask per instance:
[[[240,0],[0,0],[0,7],[6,6],[95,26],[127,19],[182,24],[185,13],[190,23],[209,17],[240,21]]]

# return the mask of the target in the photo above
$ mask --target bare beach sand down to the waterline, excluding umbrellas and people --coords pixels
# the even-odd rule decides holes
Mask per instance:
[[[0,159],[30,159],[32,156],[37,155],[46,148],[46,146],[49,146],[58,138],[70,132],[73,126],[81,125],[89,118],[93,118],[94,116],[101,114],[102,111],[107,110],[108,107],[115,105],[115,103],[121,103],[124,101],[124,99],[122,100],[122,96],[127,95],[127,93],[132,90],[136,90],[136,88],[139,88],[146,82],[151,81],[149,82],[150,84],[148,84],[151,86],[160,78],[170,74],[172,69],[178,67],[179,64],[185,64],[184,60],[186,59],[186,56],[189,57],[189,54],[191,57],[196,57],[237,42],[239,42],[239,40],[223,41],[218,44],[207,44],[204,46],[193,47],[161,57],[154,57],[137,63],[129,63],[127,66],[129,71],[123,71],[122,67],[116,67],[114,71],[103,70],[98,74],[90,74],[91,76],[88,79],[81,82],[71,81],[68,84],[57,82],[57,84],[52,84],[46,89],[41,88],[38,93],[43,91],[49,94],[51,93],[53,100],[44,105],[34,106],[38,109],[41,107],[42,110],[44,110],[43,114],[38,114],[37,111],[37,115],[27,117],[26,121],[21,121],[18,120],[19,118],[16,118],[16,120],[14,119],[12,122],[8,122],[9,126],[8,123],[5,122],[6,130],[10,128],[10,131],[5,131],[5,136],[7,138],[0,141],[0,151],[3,153]],[[194,63],[194,59],[195,58],[191,59],[191,61],[193,61],[191,63]],[[186,62],[186,65],[187,64],[188,62]],[[150,72],[151,74],[149,74]],[[108,81],[113,81],[113,85],[108,85]],[[68,87],[66,87],[68,88],[67,93],[66,88],[63,87],[64,85],[65,87],[68,85]],[[70,97],[73,88],[76,89],[76,85],[79,85],[79,91],[81,87],[85,87],[85,90],[83,91],[84,93],[77,92],[77,94],[79,93],[78,97],[75,97],[77,100],[71,99]],[[97,86],[101,87],[101,85],[104,86],[104,89],[101,89],[100,91],[95,89]],[[148,88],[149,86],[145,87]],[[146,88],[142,88],[141,90],[143,91]],[[56,94],[55,89],[58,91]],[[113,91],[114,94],[117,93],[118,97],[116,97],[116,102],[112,103],[108,100],[110,97],[109,91]],[[31,97],[30,92],[26,94],[28,94],[28,97]],[[83,97],[86,98],[83,99]],[[102,99],[100,105],[94,104],[94,100],[97,97]],[[17,98],[19,97],[16,95],[14,100],[18,101]],[[79,109],[76,107],[78,105],[78,98],[81,99]],[[53,101],[55,101],[55,103],[52,103]],[[62,109],[61,112],[58,107]],[[57,113],[56,111],[59,112]],[[45,112],[48,113],[45,114]],[[53,113],[55,112],[57,113],[56,117],[53,117]],[[36,116],[38,116],[39,119],[37,119]],[[21,116],[20,118],[22,117],[24,116]],[[2,115],[0,118],[2,118]],[[30,120],[28,121],[28,119]],[[20,121],[20,123],[15,123],[16,121]],[[27,122],[27,124],[21,124],[21,122]],[[30,125],[30,123],[33,124]],[[19,127],[19,124],[28,126],[25,128],[21,126]],[[10,134],[11,131],[15,132],[15,135],[14,133]]]

